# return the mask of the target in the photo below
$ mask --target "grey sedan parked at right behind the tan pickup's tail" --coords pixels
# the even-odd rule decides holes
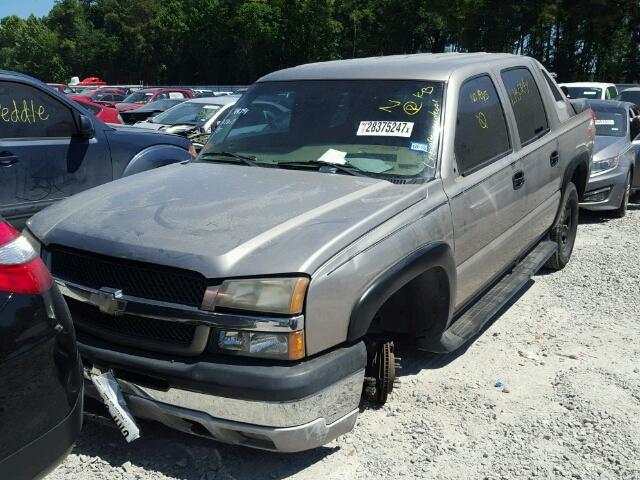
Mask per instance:
[[[589,105],[596,116],[596,143],[580,206],[624,217],[631,192],[640,190],[640,149],[633,144],[640,135],[640,109],[633,103],[610,100],[592,100]]]

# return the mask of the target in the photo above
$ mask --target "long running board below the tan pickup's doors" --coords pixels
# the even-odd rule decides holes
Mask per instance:
[[[557,249],[558,244],[555,242],[540,242],[510,273],[452,323],[439,339],[419,339],[418,347],[431,352],[449,353],[464,345],[527,284]]]

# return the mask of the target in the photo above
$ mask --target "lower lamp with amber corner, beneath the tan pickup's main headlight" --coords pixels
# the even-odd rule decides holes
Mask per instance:
[[[218,330],[217,349],[251,357],[299,360],[304,357],[304,332]]]

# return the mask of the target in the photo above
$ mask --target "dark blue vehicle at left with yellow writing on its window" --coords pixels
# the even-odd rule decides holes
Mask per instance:
[[[27,75],[0,71],[0,215],[22,225],[52,203],[191,158],[175,135],[113,128]]]

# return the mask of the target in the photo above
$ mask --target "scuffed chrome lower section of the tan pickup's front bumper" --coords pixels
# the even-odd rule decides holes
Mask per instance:
[[[250,402],[188,390],[166,392],[118,380],[131,413],[175,430],[277,452],[320,447],[350,432],[358,417],[364,371],[293,402]],[[100,400],[95,387],[87,395]],[[144,435],[144,433],[143,433]]]

